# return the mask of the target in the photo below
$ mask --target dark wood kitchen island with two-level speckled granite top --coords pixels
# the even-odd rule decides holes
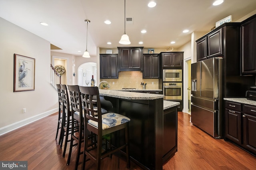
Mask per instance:
[[[131,119],[130,157],[144,169],[162,170],[162,164],[177,152],[178,102],[164,101],[164,95],[99,90],[102,107]],[[112,144],[124,141],[115,133]],[[114,140],[117,139],[117,140]]]

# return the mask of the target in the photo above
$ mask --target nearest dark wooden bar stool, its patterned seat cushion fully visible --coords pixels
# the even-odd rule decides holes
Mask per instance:
[[[129,141],[128,141],[128,122],[130,119],[117,113],[101,113],[101,104],[98,87],[79,86],[81,100],[84,107],[84,131],[88,130],[97,135],[97,145],[88,145],[88,133],[84,135],[84,159],[82,169],[85,169],[86,156],[96,163],[96,169],[100,170],[101,159],[112,153],[126,148],[127,167],[130,168]],[[112,132],[124,129],[125,144],[118,148],[102,149],[103,137]],[[111,146],[110,146],[111,147]],[[93,150],[96,150],[96,155]],[[93,153],[94,154],[93,154]]]

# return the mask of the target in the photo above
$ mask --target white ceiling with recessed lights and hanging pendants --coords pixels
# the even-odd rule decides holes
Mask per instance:
[[[256,10],[256,0],[225,0],[220,6],[212,6],[214,0],[154,0],[156,7],[148,8],[150,1],[126,0],[126,18],[133,18],[133,23],[126,22],[130,45],[118,43],[124,33],[124,0],[0,0],[0,17],[62,49],[54,51],[72,55],[85,51],[84,20],[90,20],[87,49],[96,55],[96,47],[177,49],[190,41],[194,31],[209,32],[216,21],[230,15],[237,21]],[[106,25],[105,20],[112,23]],[[142,29],[147,32],[140,33]],[[182,33],[184,29],[190,31]]]

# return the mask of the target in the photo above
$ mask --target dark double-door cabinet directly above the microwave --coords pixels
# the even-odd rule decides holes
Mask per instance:
[[[182,68],[183,52],[160,53],[163,68]]]

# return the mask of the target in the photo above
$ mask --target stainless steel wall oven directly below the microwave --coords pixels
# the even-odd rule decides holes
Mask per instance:
[[[182,82],[163,83],[164,100],[182,100]]]

